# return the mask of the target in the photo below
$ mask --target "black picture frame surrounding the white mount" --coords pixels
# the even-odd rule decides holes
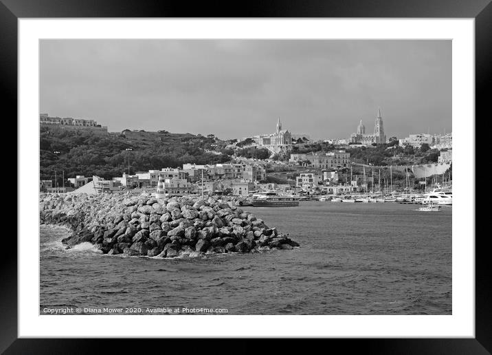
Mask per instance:
[[[0,69],[3,111],[17,116],[17,19],[43,17],[382,17],[382,18],[473,18],[476,30],[476,117],[484,116],[489,98],[492,69],[492,4],[490,0],[339,0],[339,1],[214,1],[192,6],[185,1],[138,0],[0,0]],[[5,111],[5,108],[7,109]],[[14,128],[15,129],[15,128]],[[17,186],[18,189],[21,186]],[[474,193],[474,191],[473,191]],[[463,236],[470,237],[470,236]],[[482,237],[484,237],[482,235]],[[3,238],[0,258],[0,352],[5,354],[82,354],[98,352],[106,343],[113,352],[128,349],[124,339],[19,339],[17,336],[17,243]],[[377,354],[489,354],[492,352],[491,268],[487,265],[486,238],[476,238],[476,338],[419,339],[333,339],[344,352],[364,349]],[[182,345],[182,340],[166,340],[167,346]],[[251,339],[234,345],[253,351]],[[210,340],[198,347],[209,347]],[[146,347],[157,341],[146,340]],[[311,344],[315,346],[315,344]],[[278,345],[291,347],[291,341]],[[322,345],[326,349],[326,345]],[[216,347],[213,350],[219,351]]]

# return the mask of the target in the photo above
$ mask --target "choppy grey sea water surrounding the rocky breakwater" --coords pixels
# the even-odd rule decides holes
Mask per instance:
[[[41,305],[226,308],[228,314],[451,314],[451,207],[301,202],[244,208],[301,244],[205,259],[65,250],[41,226]],[[142,311],[145,313],[144,311]]]

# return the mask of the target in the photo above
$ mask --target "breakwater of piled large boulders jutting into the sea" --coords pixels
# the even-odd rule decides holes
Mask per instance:
[[[233,200],[41,194],[40,217],[74,230],[63,239],[67,248],[89,242],[109,255],[199,257],[299,246]]]

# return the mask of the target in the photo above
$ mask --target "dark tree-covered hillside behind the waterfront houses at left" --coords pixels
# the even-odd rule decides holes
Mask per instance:
[[[205,151],[222,148],[224,143],[213,135],[125,130],[95,136],[90,131],[49,131],[45,127],[41,127],[40,135],[40,178],[54,180],[56,170],[58,184],[62,184],[62,171],[65,178],[121,176],[128,171],[128,160],[132,174],[183,163],[215,164],[230,160],[229,155]]]

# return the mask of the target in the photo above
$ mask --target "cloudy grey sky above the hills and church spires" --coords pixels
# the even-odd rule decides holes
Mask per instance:
[[[43,40],[40,113],[109,131],[451,131],[451,41]]]

